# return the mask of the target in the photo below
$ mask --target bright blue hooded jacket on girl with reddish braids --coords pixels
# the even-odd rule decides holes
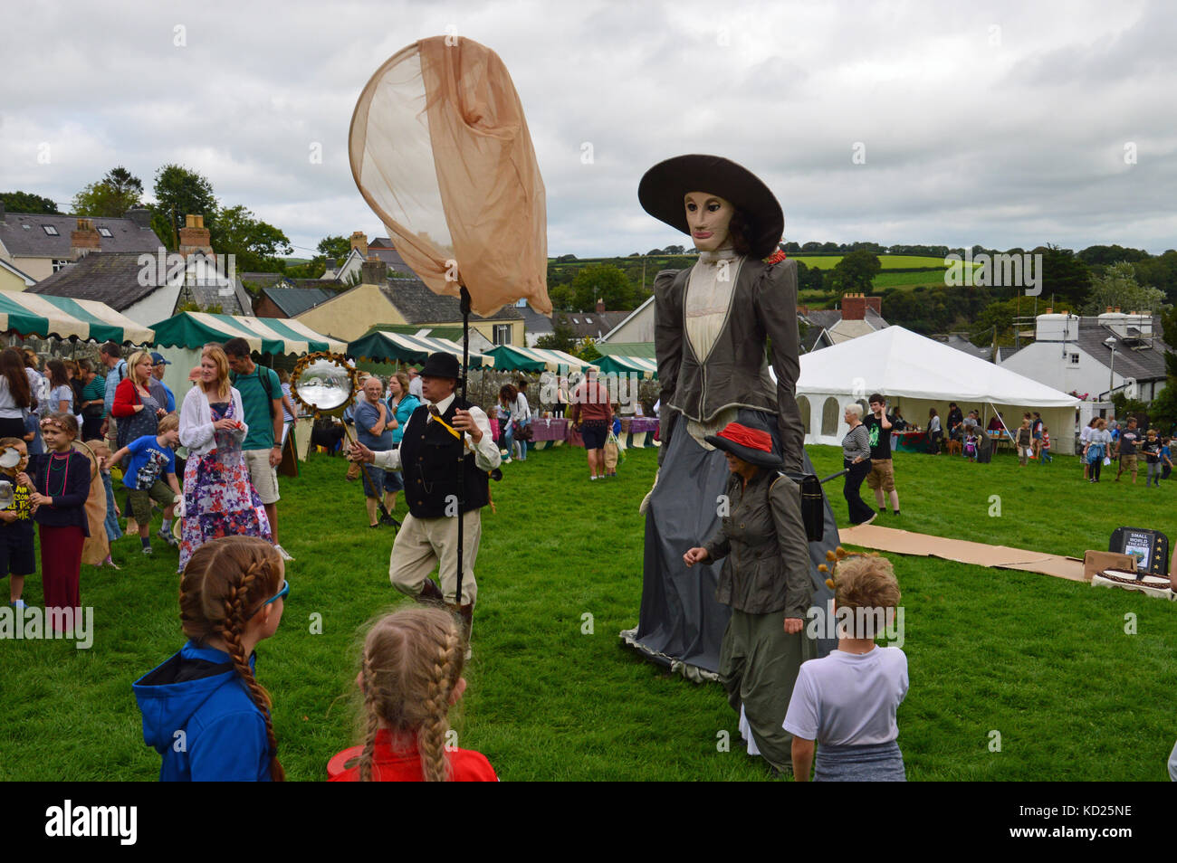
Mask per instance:
[[[228,654],[189,641],[133,689],[160,782],[270,781],[266,721]]]

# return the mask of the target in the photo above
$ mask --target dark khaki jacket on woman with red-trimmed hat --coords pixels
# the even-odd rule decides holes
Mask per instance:
[[[724,560],[716,600],[746,614],[784,611],[805,618],[813,598],[809,542],[802,520],[800,487],[760,468],[727,480],[727,515],[705,543],[712,560]]]

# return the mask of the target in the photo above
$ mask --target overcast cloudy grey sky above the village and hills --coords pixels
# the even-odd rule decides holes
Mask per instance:
[[[799,242],[1177,247],[1168,2],[42,1],[5,28],[0,190],[64,210],[115,165],[149,188],[179,162],[298,254],[383,235],[347,165],[355,99],[457,33],[514,79],[552,255],[686,245],[637,201],[680,153],[760,175]]]

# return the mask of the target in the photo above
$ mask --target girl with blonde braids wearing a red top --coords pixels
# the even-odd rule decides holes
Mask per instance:
[[[434,606],[375,622],[355,678],[366,738],[331,760],[331,782],[498,782],[485,755],[447,740],[450,708],[466,691],[464,633],[458,618]]]

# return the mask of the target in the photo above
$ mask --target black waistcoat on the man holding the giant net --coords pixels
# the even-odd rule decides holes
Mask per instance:
[[[468,410],[470,403],[454,397],[441,419],[453,426],[453,414],[458,408]],[[428,415],[427,403],[417,408],[405,423],[405,436],[400,440],[405,497],[408,511],[417,519],[440,519],[457,513],[454,500],[459,489],[463,444],[441,423],[427,422]],[[490,502],[490,483],[486,471],[474,466],[473,453],[467,453],[465,461],[461,511],[468,513]]]

